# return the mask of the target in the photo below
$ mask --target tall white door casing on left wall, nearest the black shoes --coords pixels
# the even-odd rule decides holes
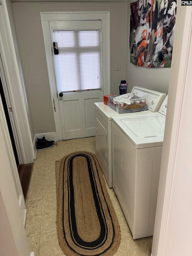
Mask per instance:
[[[10,27],[6,0],[1,0],[0,5],[0,54],[3,65],[7,90],[14,115],[16,133],[18,135],[21,164],[32,163],[35,152],[26,111],[23,84],[21,81],[16,52]],[[14,128],[14,127],[13,127]],[[16,141],[15,141],[16,142]],[[16,142],[17,143],[17,142]]]

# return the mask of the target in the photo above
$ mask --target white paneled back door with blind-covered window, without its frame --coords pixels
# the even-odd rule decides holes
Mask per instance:
[[[65,58],[66,55],[64,56],[63,54],[62,57],[61,55],[59,56],[59,53],[58,55],[57,54],[55,55],[54,49],[52,50],[63,140],[79,138],[79,137],[95,136],[94,102],[103,101],[103,96],[104,96],[103,79],[102,79],[103,77],[102,76],[102,64],[103,64],[102,63],[102,36],[100,36],[102,35],[102,21],[101,20],[49,21],[49,28],[50,28],[52,45],[54,42],[57,41],[56,36],[58,35],[58,31],[60,32],[72,31],[70,33],[71,35],[73,35],[74,31],[75,32],[77,31],[78,33],[79,31],[86,33],[86,32],[90,32],[91,30],[93,31],[95,30],[99,34],[99,46],[101,46],[101,59],[100,58],[98,59],[98,61],[101,62],[101,72],[100,72],[101,88],[99,89],[89,89],[89,86],[91,88],[91,82],[89,84],[89,80],[88,80],[89,74],[86,73],[86,75],[84,76],[87,81],[86,83],[88,85],[88,88],[85,90],[83,90],[83,88],[78,90],[78,88],[76,88],[75,77],[77,77],[77,79],[79,77],[80,77],[79,79],[84,79],[84,78],[81,78],[83,71],[81,71],[81,74],[76,74],[75,73],[76,68],[74,68],[73,66],[71,68],[72,71],[70,70],[69,72],[71,73],[74,70],[74,73],[70,74],[74,82],[71,83],[67,88],[64,85],[64,89],[62,89],[61,80],[63,79],[63,74],[61,73],[62,72],[65,73],[65,70],[67,69],[67,64],[63,68],[63,65],[60,63],[63,62],[63,59]],[[54,35],[54,31],[56,31],[55,35]],[[58,37],[61,38],[62,33]],[[61,40],[66,40],[66,39],[64,38]],[[69,44],[73,44],[73,39],[70,39],[70,40],[71,41],[69,42]],[[80,39],[78,38],[77,40],[80,40]],[[68,48],[70,47],[71,45],[69,45]],[[81,54],[83,56],[82,59],[85,57],[85,55],[88,55],[88,54],[82,53]],[[71,58],[71,55],[69,59],[70,58]],[[82,59],[80,60],[77,59],[78,61],[77,66],[83,65],[81,64]],[[67,61],[65,63],[67,63]],[[92,72],[91,70],[92,69],[90,67],[90,72]],[[66,74],[66,79],[65,79],[66,82],[64,83],[67,83],[67,79],[68,79],[68,74]]]

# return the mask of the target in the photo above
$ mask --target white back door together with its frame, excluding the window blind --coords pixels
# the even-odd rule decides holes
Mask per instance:
[[[95,136],[94,102],[103,101],[103,95],[110,94],[109,12],[41,12],[41,21],[57,139]],[[57,55],[54,54],[53,48],[53,42],[56,42],[54,41],[54,30],[90,31],[98,29],[102,33],[101,89],[63,92],[63,96],[60,97]]]

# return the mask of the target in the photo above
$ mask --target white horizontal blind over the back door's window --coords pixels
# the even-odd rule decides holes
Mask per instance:
[[[54,30],[61,92],[101,90],[100,34],[100,30]]]

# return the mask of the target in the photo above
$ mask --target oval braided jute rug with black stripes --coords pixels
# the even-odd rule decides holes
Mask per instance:
[[[121,231],[95,154],[61,159],[57,191],[57,235],[67,256],[113,255]]]

